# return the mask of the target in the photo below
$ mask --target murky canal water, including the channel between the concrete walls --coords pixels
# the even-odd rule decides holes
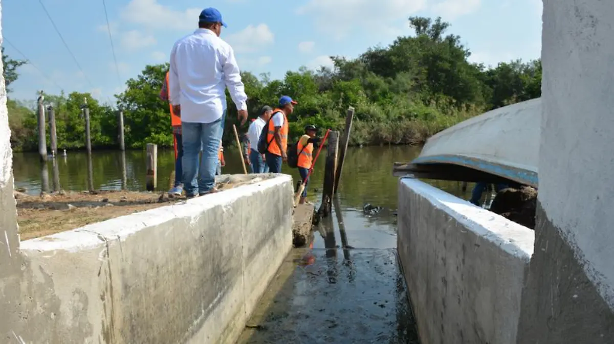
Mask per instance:
[[[420,147],[350,148],[334,202],[333,214],[316,227],[313,248],[295,249],[287,257],[255,308],[238,343],[419,343],[414,315],[396,258],[398,178],[392,162],[408,162]],[[325,153],[325,152],[323,152]],[[165,191],[174,169],[173,151],[158,151],[158,188]],[[236,148],[225,151],[224,174],[243,172]],[[125,162],[123,162],[125,161]],[[145,188],[144,151],[95,151],[88,177],[88,158],[69,152],[56,159],[60,188]],[[122,178],[122,166],[125,178]],[[314,169],[308,198],[319,204],[324,159]],[[294,180],[297,170],[285,167]],[[53,188],[53,162],[47,162]],[[15,187],[41,192],[36,153],[14,154]],[[122,180],[124,179],[124,180]],[[473,185],[429,181],[468,199]],[[365,212],[370,204],[379,211]]]

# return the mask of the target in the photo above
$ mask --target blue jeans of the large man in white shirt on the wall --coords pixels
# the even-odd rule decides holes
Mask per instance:
[[[216,183],[220,140],[224,131],[226,112],[211,123],[182,122],[182,142],[184,148],[183,170],[184,189],[187,196],[206,194]],[[198,162],[198,153],[203,156]],[[200,173],[200,175],[199,175]]]

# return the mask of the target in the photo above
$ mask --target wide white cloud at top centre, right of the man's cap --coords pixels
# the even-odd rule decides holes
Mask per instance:
[[[425,6],[426,0],[309,0],[297,12],[313,15],[318,28],[342,39],[355,28],[389,31],[391,23],[406,20]]]

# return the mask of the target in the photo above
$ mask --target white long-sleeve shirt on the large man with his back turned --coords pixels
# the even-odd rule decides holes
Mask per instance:
[[[237,109],[247,110],[247,95],[233,48],[209,29],[197,29],[171,50],[169,101],[181,105],[181,121],[211,123],[226,110],[225,88]]]

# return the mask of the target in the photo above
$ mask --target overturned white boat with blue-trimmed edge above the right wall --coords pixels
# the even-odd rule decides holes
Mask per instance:
[[[537,188],[541,119],[541,98],[483,113],[430,137],[410,164],[395,162],[394,175]]]

